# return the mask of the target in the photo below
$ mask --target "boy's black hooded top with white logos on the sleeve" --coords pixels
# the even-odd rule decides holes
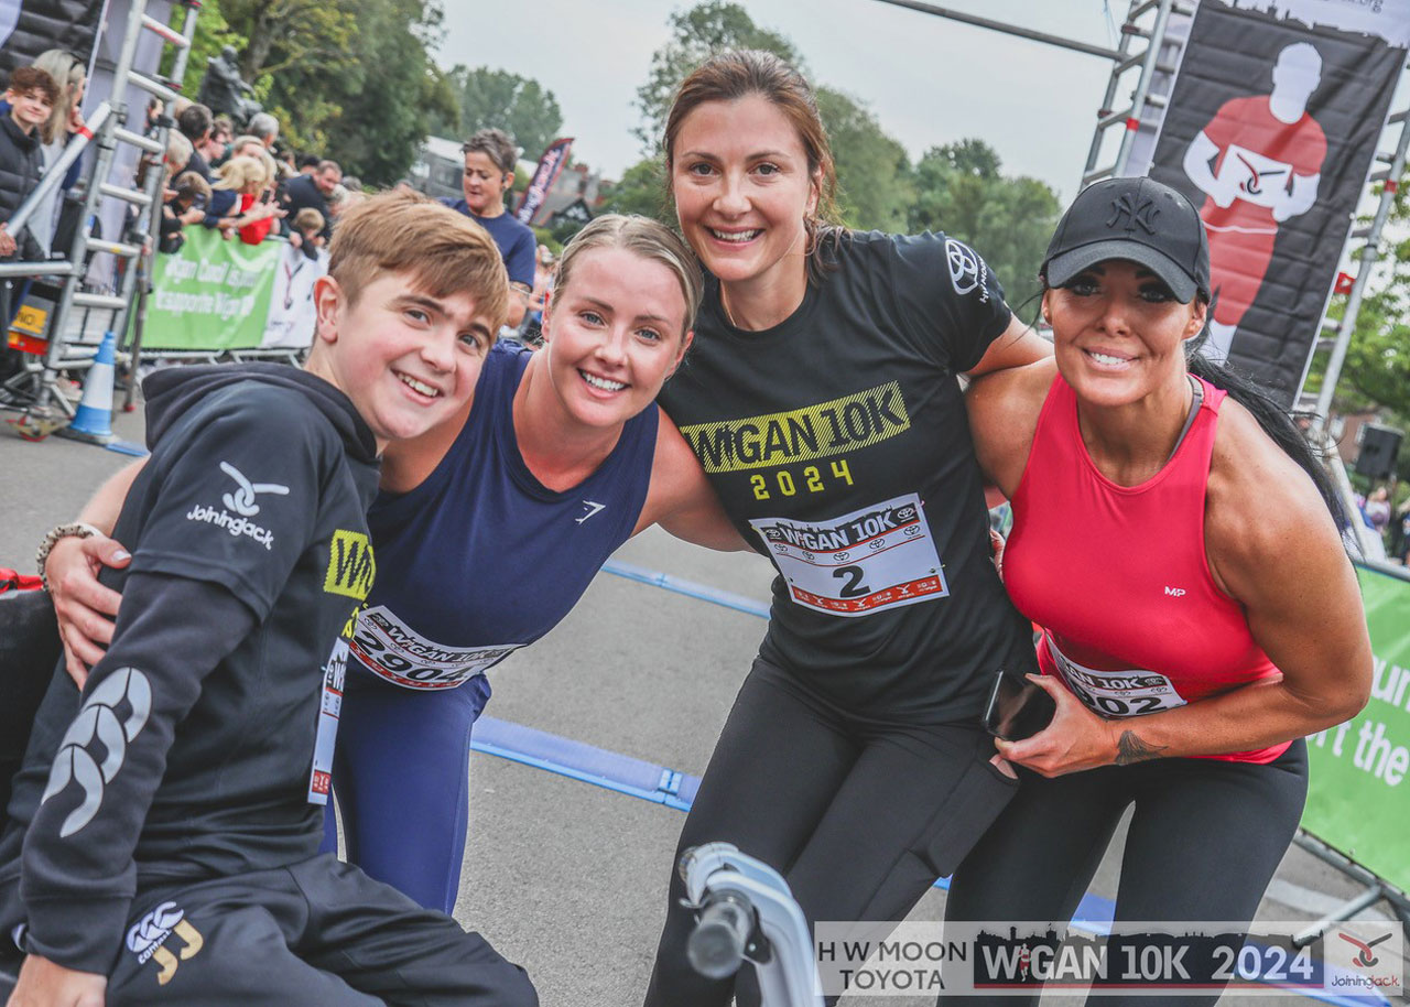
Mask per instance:
[[[103,577],[123,590],[113,643],[82,695],[56,670],[0,853],[0,924],[92,972],[141,884],[317,852],[320,685],[341,688],[374,575],[375,441],[351,402],[288,367],[173,370],[155,402],[148,381],[159,433],[114,529],[133,561]]]

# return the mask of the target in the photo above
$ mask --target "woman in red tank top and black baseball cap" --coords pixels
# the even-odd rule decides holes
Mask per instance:
[[[1301,815],[1301,738],[1369,695],[1334,491],[1276,403],[1191,354],[1211,283],[1180,193],[1086,189],[1042,276],[1055,357],[980,378],[967,405],[1056,714],[995,742],[1022,787],[946,918],[1069,920],[1135,805],[1117,922],[1246,922]]]

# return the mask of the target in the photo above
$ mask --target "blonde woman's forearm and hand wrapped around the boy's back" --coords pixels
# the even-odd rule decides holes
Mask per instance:
[[[113,533],[133,480],[145,464],[142,458],[117,470],[83,506],[79,520],[103,535],[59,539],[44,564],[63,640],[63,664],[79,688],[83,688],[89,667],[97,664],[113,642],[113,619],[123,597],[99,584],[97,574],[103,567],[125,567],[133,559],[120,542],[107,536]]]

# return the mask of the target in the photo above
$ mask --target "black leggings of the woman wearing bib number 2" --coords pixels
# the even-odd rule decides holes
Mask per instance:
[[[860,722],[763,659],[735,700],[681,831],[680,853],[732,842],[780,870],[812,921],[901,920],[984,834],[1017,783],[977,725]],[[646,1003],[728,1004],[735,982],[685,959],[694,914],[674,863]],[[756,1004],[753,970],[739,1003]]]

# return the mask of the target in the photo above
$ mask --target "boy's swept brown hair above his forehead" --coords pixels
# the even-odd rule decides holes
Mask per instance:
[[[384,272],[407,274],[433,298],[468,293],[491,331],[509,317],[509,274],[489,233],[419,192],[379,192],[338,217],[329,275],[348,303]]]

